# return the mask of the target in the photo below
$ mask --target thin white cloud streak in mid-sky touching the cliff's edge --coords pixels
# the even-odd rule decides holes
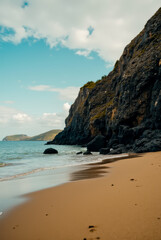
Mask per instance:
[[[29,89],[32,91],[56,92],[59,94],[60,98],[65,101],[74,101],[80,90],[79,87],[53,88],[49,85],[30,86]]]

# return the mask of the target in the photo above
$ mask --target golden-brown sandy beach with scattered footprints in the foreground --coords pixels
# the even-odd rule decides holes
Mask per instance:
[[[0,216],[0,239],[161,240],[161,152],[83,171]]]

